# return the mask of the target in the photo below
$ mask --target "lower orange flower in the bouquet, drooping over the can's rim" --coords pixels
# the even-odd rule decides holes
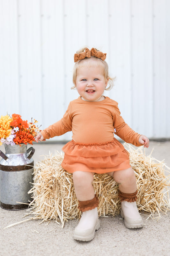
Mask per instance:
[[[30,134],[29,131],[24,131],[24,130],[19,130],[16,133],[16,137],[14,138],[14,142],[15,144],[32,144],[33,145],[33,141],[35,141],[35,138],[32,134]]]

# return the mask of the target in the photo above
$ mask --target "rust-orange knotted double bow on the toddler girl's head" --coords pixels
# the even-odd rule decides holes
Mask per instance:
[[[85,58],[90,58],[91,56],[99,58],[102,61],[104,61],[106,59],[106,53],[96,51],[96,49],[94,49],[94,48],[92,48],[91,50],[89,50],[88,48],[85,48],[84,52],[74,54],[74,62],[78,62],[78,61],[83,60]]]

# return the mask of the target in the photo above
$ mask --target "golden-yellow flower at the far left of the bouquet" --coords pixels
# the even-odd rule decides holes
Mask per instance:
[[[10,123],[12,121],[12,118],[8,115],[1,116],[0,118],[0,139],[7,138],[11,135],[12,128],[10,127]],[[2,142],[0,142],[0,145],[2,145]]]

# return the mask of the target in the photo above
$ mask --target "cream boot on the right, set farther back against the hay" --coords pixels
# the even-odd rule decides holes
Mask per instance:
[[[128,228],[143,227],[144,223],[140,216],[136,202],[122,201],[121,217],[124,218],[124,224]]]

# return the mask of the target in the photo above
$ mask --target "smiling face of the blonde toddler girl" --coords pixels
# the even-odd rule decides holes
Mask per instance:
[[[107,82],[104,78],[104,67],[101,65],[85,65],[77,70],[76,88],[83,100],[100,101]]]

